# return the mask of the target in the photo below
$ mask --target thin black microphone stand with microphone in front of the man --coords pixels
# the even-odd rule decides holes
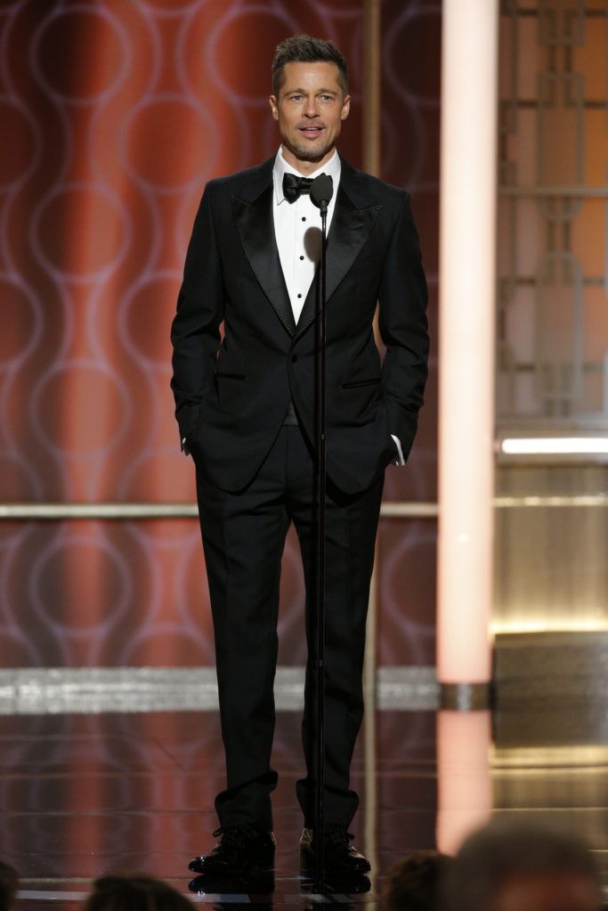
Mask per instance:
[[[325,174],[314,179],[310,195],[321,211],[321,258],[315,326],[315,431],[316,431],[316,516],[314,529],[315,611],[314,611],[314,694],[315,694],[315,762],[314,762],[314,892],[325,891],[325,491],[326,491],[326,421],[325,421],[325,305],[327,204],[333,195],[332,179]]]

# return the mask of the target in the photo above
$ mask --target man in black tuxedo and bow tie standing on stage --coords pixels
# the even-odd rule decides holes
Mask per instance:
[[[197,493],[215,635],[227,787],[220,841],[199,872],[272,866],[270,766],[281,557],[294,522],[306,590],[314,518],[315,268],[328,174],[325,863],[365,872],[347,832],[349,766],[363,716],[369,582],[386,466],[404,464],[427,377],[427,286],[407,192],[335,150],[350,98],[344,57],[294,36],[277,48],[270,106],[282,145],[256,168],[211,180],[173,322],[172,388]],[[302,178],[309,179],[302,181]],[[372,322],[386,345],[381,363]],[[223,338],[220,326],[223,322]],[[307,605],[308,614],[308,605]],[[306,624],[310,642],[310,624]],[[313,858],[313,673],[306,669],[301,850]]]

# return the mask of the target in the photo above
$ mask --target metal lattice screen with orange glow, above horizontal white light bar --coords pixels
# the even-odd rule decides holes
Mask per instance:
[[[608,3],[500,17],[499,425],[608,427]]]

